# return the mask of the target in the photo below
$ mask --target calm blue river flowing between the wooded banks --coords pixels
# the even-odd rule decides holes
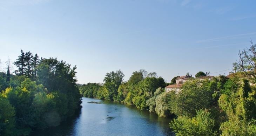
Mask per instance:
[[[31,136],[174,136],[169,118],[127,104],[82,98],[83,108],[57,127],[31,132]],[[88,103],[94,102],[94,103]],[[96,102],[96,103],[95,103]]]

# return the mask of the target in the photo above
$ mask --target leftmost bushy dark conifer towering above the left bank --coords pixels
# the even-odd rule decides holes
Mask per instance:
[[[26,67],[25,53],[23,53],[23,50],[20,50],[20,52],[21,52],[21,55],[19,56],[19,58],[13,62],[13,64],[19,69],[19,70],[15,70],[16,75],[24,75],[25,73],[25,67]]]

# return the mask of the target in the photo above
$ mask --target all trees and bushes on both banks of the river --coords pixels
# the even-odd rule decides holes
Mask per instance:
[[[256,134],[256,45],[252,42],[239,53],[240,59],[233,63],[237,72],[230,78],[190,78],[177,93],[164,91],[166,85],[175,84],[177,76],[166,83],[146,70],[133,72],[127,82],[123,72],[116,70],[106,74],[104,84],[76,85],[76,67],[72,69],[56,58],[39,59],[30,52],[21,53],[14,62],[19,68],[16,75],[10,74],[8,67],[0,76],[1,135],[28,135],[33,128],[58,125],[80,107],[80,94],[173,117],[170,128],[177,136]]]

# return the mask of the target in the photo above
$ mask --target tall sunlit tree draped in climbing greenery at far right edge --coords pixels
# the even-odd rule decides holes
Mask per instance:
[[[242,83],[241,83],[242,82]],[[218,100],[219,106],[227,113],[228,120],[221,124],[222,136],[253,136],[256,133],[256,93],[247,79],[229,79],[225,91]]]

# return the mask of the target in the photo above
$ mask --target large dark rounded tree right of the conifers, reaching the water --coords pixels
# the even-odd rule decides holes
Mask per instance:
[[[69,107],[66,116],[72,116],[82,103],[81,94],[76,86],[76,66],[71,68],[70,64],[63,60],[44,58],[37,67],[38,84],[43,84],[49,93],[59,91],[65,94]]]

